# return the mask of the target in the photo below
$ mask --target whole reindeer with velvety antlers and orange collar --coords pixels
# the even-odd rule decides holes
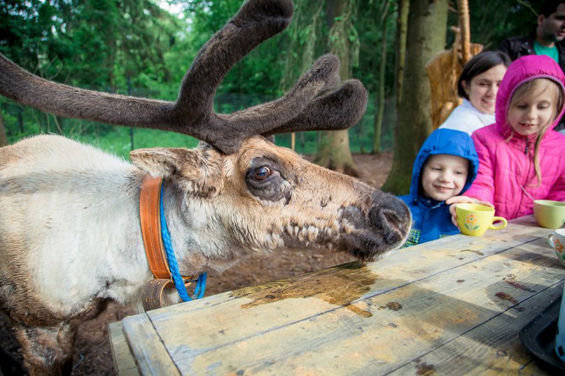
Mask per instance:
[[[15,101],[203,141],[192,150],[134,150],[132,164],[55,135],[0,148],[0,309],[11,319],[29,373],[69,374],[78,324],[109,300],[142,310],[152,281],[221,272],[250,254],[284,249],[330,249],[372,260],[404,242],[411,218],[398,198],[265,138],[347,129],[360,119],[367,94],[356,80],[335,89],[335,56],[318,59],[281,99],[214,113],[225,74],[282,31],[292,12],[289,0],[244,3],[202,47],[174,103],[61,85],[0,56],[0,92]],[[155,222],[143,224],[155,212],[144,211],[146,194],[162,205],[160,220],[176,255],[178,270],[169,263],[165,276],[151,263],[158,256],[148,244],[162,239],[147,236],[160,232]],[[160,288],[161,298],[181,300],[174,289]]]

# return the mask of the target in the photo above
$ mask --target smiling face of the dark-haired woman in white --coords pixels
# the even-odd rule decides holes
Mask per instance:
[[[490,115],[494,114],[496,93],[498,93],[504,73],[506,73],[506,67],[504,64],[498,64],[488,71],[475,75],[470,82],[461,82],[469,96],[470,103],[477,110]]]

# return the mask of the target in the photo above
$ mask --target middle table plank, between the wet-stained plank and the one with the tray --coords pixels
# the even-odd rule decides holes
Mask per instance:
[[[187,375],[390,372],[501,312],[520,314],[519,303],[565,280],[565,269],[547,256],[541,240],[412,284],[400,282],[400,288],[361,299],[354,309],[331,310],[271,331],[260,330],[227,346],[198,349],[197,335],[186,341],[192,342],[192,348],[174,350],[174,359]],[[314,301],[306,298],[297,307]],[[267,311],[276,311],[277,303],[265,303]],[[288,308],[291,301],[284,303],[287,313],[299,313]],[[530,313],[522,314],[531,317]],[[230,325],[261,327],[263,323],[256,321],[260,319],[257,315]]]

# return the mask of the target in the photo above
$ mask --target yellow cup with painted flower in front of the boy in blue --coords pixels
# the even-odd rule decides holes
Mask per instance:
[[[469,236],[483,236],[487,230],[501,230],[508,221],[503,217],[494,217],[494,209],[477,203],[458,203],[455,207],[457,224],[462,233]],[[494,222],[502,222],[494,225]]]

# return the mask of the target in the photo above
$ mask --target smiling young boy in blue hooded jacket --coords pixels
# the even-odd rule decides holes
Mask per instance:
[[[459,233],[445,200],[466,191],[478,170],[479,157],[467,133],[431,133],[414,161],[410,194],[400,196],[412,212],[412,229],[403,247]]]

